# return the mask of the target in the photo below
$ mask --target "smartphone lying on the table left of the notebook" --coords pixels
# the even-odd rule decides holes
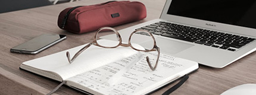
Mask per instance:
[[[14,53],[35,55],[42,52],[42,50],[45,50],[48,47],[65,40],[66,38],[67,37],[62,34],[41,34],[38,37],[11,48],[10,51]]]

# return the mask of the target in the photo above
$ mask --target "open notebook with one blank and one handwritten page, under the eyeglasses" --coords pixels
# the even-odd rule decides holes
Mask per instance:
[[[197,62],[161,54],[151,71],[144,55],[121,46],[91,46],[69,64],[66,52],[73,56],[83,46],[23,62],[20,68],[92,94],[146,94],[198,69]]]

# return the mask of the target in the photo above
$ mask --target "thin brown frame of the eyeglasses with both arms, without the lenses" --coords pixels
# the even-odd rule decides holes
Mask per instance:
[[[117,39],[119,41],[118,45],[117,46],[113,46],[113,47],[107,47],[107,46],[101,46],[98,44],[97,42],[97,37],[98,37],[98,33],[102,30],[105,30],[105,29],[109,29],[109,30],[112,30],[115,32],[115,34],[117,34]],[[154,40],[154,46],[152,47],[152,49],[148,50],[148,49],[145,49],[145,50],[139,50],[139,49],[136,49],[135,47],[132,46],[132,43],[130,42],[132,36],[134,33],[138,32],[138,31],[144,31],[146,33],[149,34],[149,36],[152,37],[152,39]],[[149,31],[146,31],[146,30],[135,30],[133,31],[131,34],[130,34],[130,37],[129,37],[129,41],[128,41],[128,44],[125,44],[125,43],[122,43],[122,39],[121,39],[121,35],[120,33],[118,33],[117,30],[113,29],[112,27],[101,27],[100,29],[98,29],[96,31],[96,34],[94,36],[94,40],[93,42],[89,43],[88,45],[82,47],[82,49],[80,49],[79,51],[76,52],[76,54],[70,59],[70,53],[67,52],[66,55],[67,55],[67,59],[68,59],[68,62],[71,64],[74,59],[77,58],[77,56],[80,55],[80,53],[82,53],[84,50],[86,50],[88,47],[90,47],[91,45],[95,45],[95,46],[99,46],[99,47],[104,47],[104,48],[115,48],[115,47],[118,47],[118,46],[124,46],[124,47],[132,47],[132,49],[135,49],[135,50],[138,50],[140,52],[152,52],[152,51],[157,51],[158,52],[158,56],[157,56],[157,61],[155,63],[155,66],[153,67],[149,61],[149,57],[146,56],[146,62],[148,63],[148,66],[149,68],[152,70],[152,71],[155,71],[155,69],[157,68],[157,65],[158,65],[158,60],[160,58],[160,47],[157,46],[157,43],[155,42],[155,37],[149,33]]]

